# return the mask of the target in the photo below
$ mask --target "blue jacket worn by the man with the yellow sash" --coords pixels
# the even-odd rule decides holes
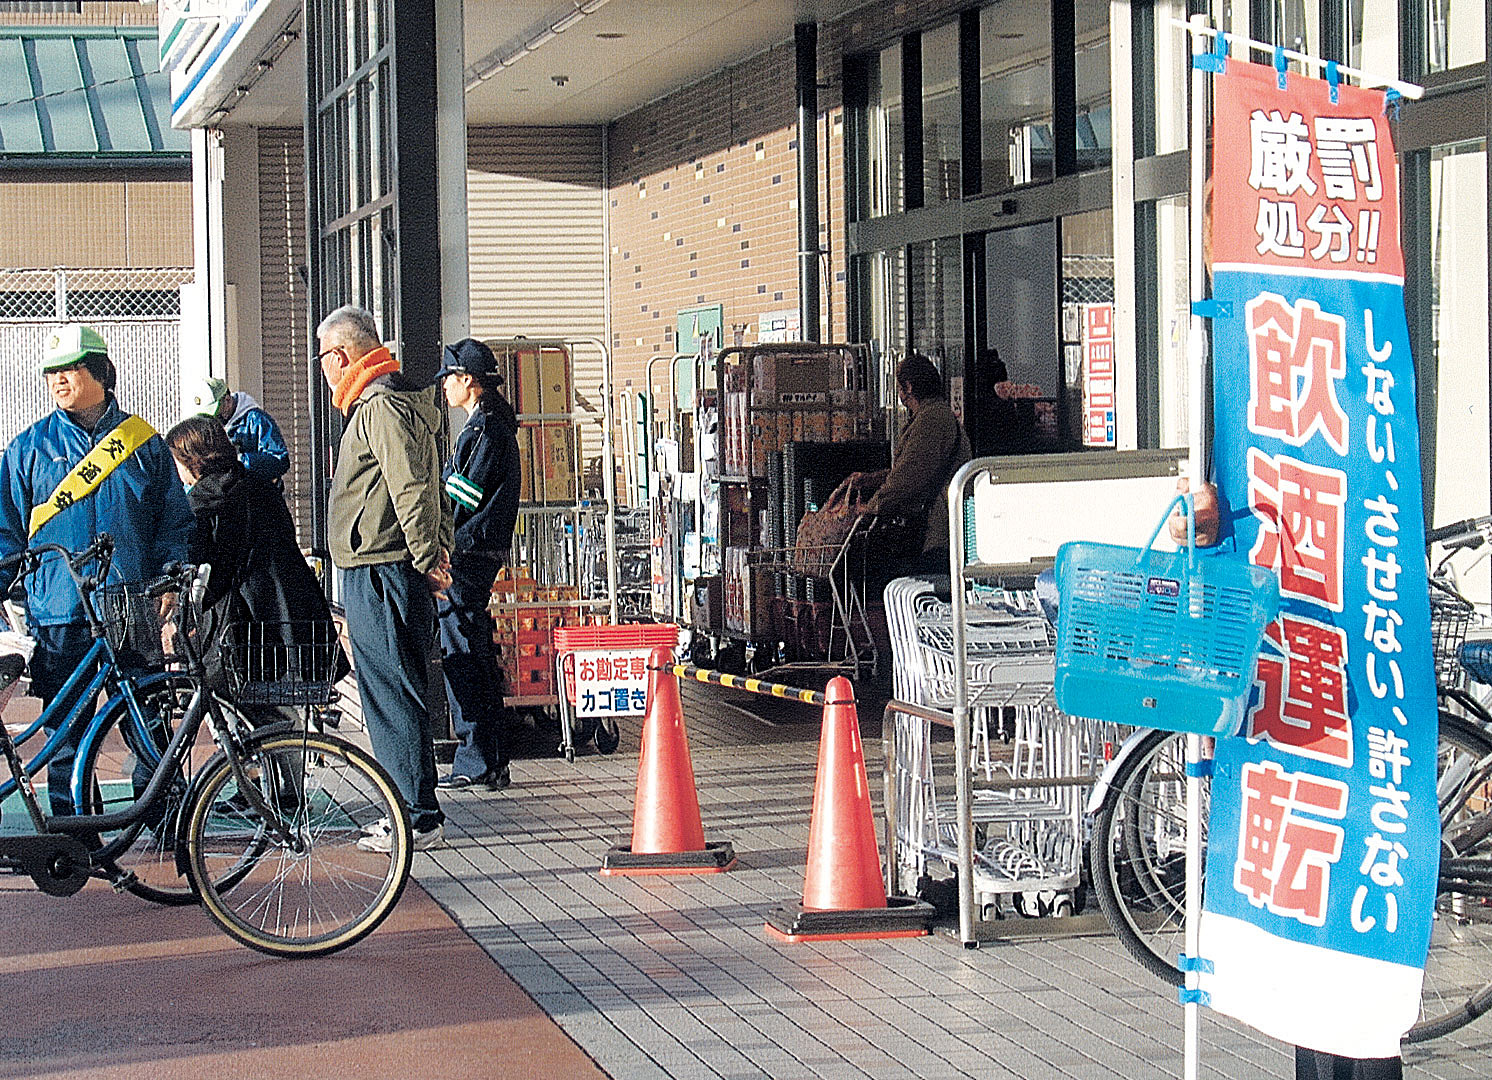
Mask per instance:
[[[125,416],[128,413],[110,394],[109,407],[93,431],[55,409],[10,440],[0,456],[0,558],[40,543],[82,550],[100,533],[115,539],[110,580],[148,580],[167,562],[186,558],[191,506],[160,436],[151,436],[93,494],[54,515],[34,537],[27,537],[31,507],[45,501]],[[10,574],[0,577],[0,586],[10,585]],[[60,559],[43,559],[25,588],[34,625],[84,622],[78,588]]]

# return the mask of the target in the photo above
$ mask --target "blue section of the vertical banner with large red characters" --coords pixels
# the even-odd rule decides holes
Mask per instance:
[[[1222,550],[1280,574],[1280,619],[1217,740],[1206,910],[1420,967],[1438,725],[1402,286],[1219,267],[1213,295]]]

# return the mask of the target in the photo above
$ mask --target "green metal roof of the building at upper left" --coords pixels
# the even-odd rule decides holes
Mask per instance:
[[[0,27],[0,167],[182,163],[151,27]]]

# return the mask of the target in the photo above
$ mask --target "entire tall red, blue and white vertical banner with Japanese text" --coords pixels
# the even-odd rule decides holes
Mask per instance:
[[[1283,1041],[1385,1058],[1417,1017],[1440,840],[1385,94],[1232,61],[1214,88],[1216,479],[1225,547],[1282,604],[1217,740],[1201,988]]]

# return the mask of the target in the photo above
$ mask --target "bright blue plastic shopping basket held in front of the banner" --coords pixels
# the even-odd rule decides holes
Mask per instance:
[[[1177,503],[1186,550],[1153,550]],[[1062,544],[1056,582],[1062,712],[1204,735],[1238,729],[1279,580],[1240,559],[1198,558],[1189,497],[1171,501],[1141,549]]]

